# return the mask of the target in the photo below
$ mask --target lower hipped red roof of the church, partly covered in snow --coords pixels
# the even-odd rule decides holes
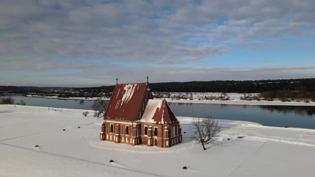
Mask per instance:
[[[178,122],[165,99],[149,99],[140,121],[157,124],[170,124]]]

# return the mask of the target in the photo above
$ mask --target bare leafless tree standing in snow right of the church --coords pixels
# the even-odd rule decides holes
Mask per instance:
[[[203,150],[206,150],[205,145],[208,145],[217,140],[220,133],[219,121],[212,117],[194,118],[192,122],[192,135],[190,139],[197,144],[202,145]]]

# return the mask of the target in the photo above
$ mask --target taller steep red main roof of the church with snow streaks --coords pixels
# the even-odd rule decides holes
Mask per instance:
[[[135,121],[148,83],[117,84],[104,118]]]

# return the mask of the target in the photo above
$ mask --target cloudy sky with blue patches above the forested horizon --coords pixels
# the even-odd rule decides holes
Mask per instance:
[[[1,0],[0,85],[315,78],[315,0]]]

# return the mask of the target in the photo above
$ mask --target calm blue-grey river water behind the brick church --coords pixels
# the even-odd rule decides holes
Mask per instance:
[[[0,95],[0,98],[8,95]],[[10,95],[15,102],[24,100],[29,106],[91,109],[92,100],[72,100],[42,97]],[[298,127],[315,129],[314,106],[265,106],[265,105],[230,105],[207,103],[168,103],[176,116],[213,117],[219,119],[244,120],[266,126]]]

